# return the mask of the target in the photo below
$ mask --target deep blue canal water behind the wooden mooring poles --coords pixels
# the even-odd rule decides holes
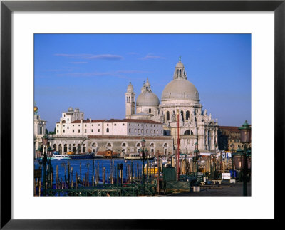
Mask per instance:
[[[142,160],[123,160],[123,159],[74,159],[74,160],[51,160],[51,165],[53,167],[53,183],[56,182],[56,166],[58,166],[58,179],[61,181],[66,181],[68,178],[68,162],[70,164],[70,177],[73,180],[73,183],[76,182],[76,172],[78,177],[81,177],[81,180],[86,179],[86,173],[89,174],[89,183],[92,184],[92,177],[96,169],[99,167],[99,183],[103,181],[103,168],[105,167],[105,182],[107,182],[107,176],[110,177],[112,173],[112,165],[114,165],[114,178],[116,178],[116,167],[117,164],[123,164],[123,181],[127,179],[127,167],[132,165],[133,161],[133,176],[137,174],[137,168],[139,169],[140,174],[142,173]],[[93,167],[94,162],[94,167]],[[149,160],[150,164],[153,160]],[[145,164],[147,160],[145,160]],[[38,160],[34,161],[34,169],[39,169],[42,167],[39,164]],[[48,167],[48,163],[46,163]],[[129,168],[130,168],[129,167]],[[71,168],[73,172],[71,173]],[[81,168],[81,170],[80,170]],[[94,168],[94,169],[93,169]],[[81,173],[80,173],[81,171]],[[71,181],[70,180],[70,181]]]

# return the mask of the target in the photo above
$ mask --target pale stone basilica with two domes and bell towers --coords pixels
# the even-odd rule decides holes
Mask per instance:
[[[148,78],[136,101],[133,85],[129,83],[125,93],[125,117],[161,122],[165,135],[173,137],[175,149],[179,134],[182,153],[195,150],[195,142],[200,152],[217,150],[217,119],[202,110],[198,90],[187,80],[181,58],[175,66],[173,80],[162,92],[161,101],[152,93]]]

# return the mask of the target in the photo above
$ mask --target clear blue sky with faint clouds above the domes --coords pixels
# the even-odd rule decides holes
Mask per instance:
[[[85,118],[123,119],[129,81],[136,98],[146,78],[161,98],[179,56],[219,125],[251,123],[250,34],[35,34],[38,114],[48,131],[70,106]]]

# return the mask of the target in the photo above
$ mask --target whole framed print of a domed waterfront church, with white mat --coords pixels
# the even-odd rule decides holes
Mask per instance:
[[[170,221],[178,219],[187,223],[191,219],[279,219],[276,210],[280,204],[276,200],[282,198],[276,189],[276,175],[284,166],[284,161],[279,160],[279,155],[283,156],[284,142],[284,10],[284,1],[1,1],[1,229],[156,229],[165,228]],[[218,44],[216,49],[212,43]],[[209,55],[211,52],[215,55]],[[48,58],[47,53],[52,58]],[[167,73],[163,72],[168,68],[166,65],[171,65],[172,56],[177,56],[173,80],[164,77]],[[196,76],[203,71],[209,76],[195,82],[200,84],[199,88],[207,85],[201,92],[208,96],[211,89],[219,92],[208,97],[210,103],[203,110],[204,102],[199,104],[202,93],[199,91],[199,95],[188,81],[191,78],[187,78],[196,72],[188,70],[188,61],[183,65],[184,56],[191,60],[192,64],[187,65],[197,71]],[[123,60],[132,58],[137,61],[123,66]],[[81,71],[82,66],[85,66],[84,71]],[[207,68],[211,73],[206,73]],[[151,75],[156,75],[155,80],[152,81]],[[244,75],[249,77],[244,78]],[[137,83],[143,80],[143,85]],[[173,84],[178,81],[184,84],[175,91]],[[94,83],[97,85],[92,85]],[[191,84],[188,88],[192,90],[184,90],[183,94],[180,91],[187,84]],[[155,87],[163,89],[159,93],[161,101],[155,95]],[[119,88],[123,88],[122,92]],[[135,90],[140,92],[137,98]],[[110,104],[118,99],[118,92],[120,98],[125,95],[120,116],[124,119],[117,119],[122,106]],[[95,105],[90,96],[94,94],[97,98],[104,95]],[[90,102],[84,102],[84,98],[91,98]],[[222,108],[224,98],[232,103]],[[239,104],[235,98],[239,98]],[[77,103],[74,106],[80,105],[83,109],[73,108],[64,100]],[[188,107],[184,107],[186,104]],[[50,108],[50,113],[64,112],[54,119],[48,117],[50,125],[41,120],[46,119],[40,113],[46,110],[43,105]],[[229,146],[227,150],[217,147],[222,145],[218,126],[223,126],[206,110],[214,105],[219,117],[226,114],[225,117],[232,120],[238,116],[249,120],[244,125],[237,124],[242,126],[237,129],[241,130],[239,138],[231,137],[232,142],[224,145],[232,149],[237,145],[236,152],[240,147],[252,149],[252,157],[247,155],[252,164],[241,163],[234,167],[236,160],[244,160],[245,155],[232,155],[234,150],[231,152]],[[57,108],[58,112],[51,108]],[[112,116],[100,120],[101,115],[105,116],[102,108],[110,109],[108,113]],[[89,113],[96,116],[84,117],[84,110],[86,116]],[[243,110],[247,113],[240,115]],[[136,124],[134,120],[140,122]],[[206,120],[209,120],[207,124]],[[158,127],[162,123],[168,125],[167,129]],[[157,128],[150,129],[152,125]],[[251,125],[252,141],[247,141],[242,133],[245,130],[248,134]],[[234,132],[229,126],[224,129]],[[127,137],[123,132],[128,132]],[[142,132],[144,135],[139,135]],[[35,141],[33,134],[37,133]],[[50,138],[46,144],[44,134]],[[144,138],[141,140],[141,137]],[[120,139],[119,144],[115,144],[115,138]],[[33,158],[28,155],[32,151]],[[212,163],[211,151],[218,160],[217,165]],[[244,148],[245,152],[249,153]],[[82,160],[81,167],[81,162],[70,165],[69,160],[61,160],[60,164],[54,164],[56,160],[53,160],[51,164],[56,157],[76,159],[91,155],[92,159],[105,157],[107,163],[103,166],[98,160],[98,167],[94,167],[92,161]],[[175,159],[175,164],[171,160],[169,170],[165,169],[168,155]],[[237,157],[235,162],[228,161],[228,155],[232,159]],[[120,158],[117,160],[120,164],[114,166],[116,157]],[[138,160],[133,167],[128,157],[140,157],[142,161]],[[191,159],[190,167],[187,167],[187,157]],[[164,176],[169,172],[169,177],[160,175],[158,164],[161,160],[162,165],[162,158]],[[200,168],[202,163],[204,169]],[[247,171],[242,165],[246,165]],[[248,197],[232,194],[171,197],[164,196],[160,190],[163,186],[164,192],[175,194],[182,185],[173,185],[174,182],[171,185],[166,177],[177,177],[180,184],[189,184],[192,192],[202,194],[202,191],[194,191],[200,189],[199,183],[209,188],[211,183],[233,179],[234,168],[237,171],[239,167],[239,179],[247,180],[244,174],[252,177],[248,191],[244,182],[244,196],[249,194]],[[206,172],[217,169],[221,178],[211,175],[208,182]],[[152,179],[155,172],[157,179]],[[47,183],[41,184],[41,177]],[[191,184],[191,178],[197,184]],[[130,191],[123,188],[129,186],[128,182],[137,183],[134,186],[137,190],[133,192],[136,196],[116,196],[118,191],[130,195]],[[105,191],[102,197],[93,197],[94,187],[93,192],[80,189],[96,183],[103,186],[100,191],[96,190]],[[226,189],[224,187],[224,191]],[[152,196],[153,191],[161,193]],[[146,193],[149,196],[145,196]],[[214,210],[209,203],[214,205]],[[229,207],[224,211],[229,203],[234,207],[234,214],[228,211]]]

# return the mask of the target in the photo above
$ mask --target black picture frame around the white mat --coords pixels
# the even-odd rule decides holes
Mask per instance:
[[[14,11],[274,11],[274,220],[279,220],[277,210],[284,203],[284,196],[277,188],[275,175],[284,168],[284,1],[1,1],[1,229],[167,229],[170,222],[177,220],[11,219],[11,14]],[[187,220],[179,221],[180,226],[187,224]]]

